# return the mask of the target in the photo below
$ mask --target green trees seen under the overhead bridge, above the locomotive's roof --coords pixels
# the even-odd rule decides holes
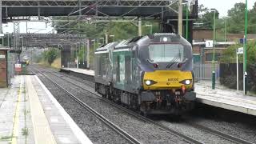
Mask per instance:
[[[62,19],[62,17],[54,17],[54,19]],[[76,18],[70,18],[75,20]],[[122,19],[121,19],[122,20]],[[134,21],[136,23],[137,20]],[[133,38],[138,36],[138,26],[133,22],[80,22],[80,29],[78,30],[78,21],[75,22],[55,22],[54,26],[58,33],[68,31],[70,34],[86,34],[89,38],[105,38],[105,34],[114,35],[110,37],[109,42]],[[152,32],[159,32],[158,22],[142,21],[142,34],[150,34],[150,26],[152,25]]]

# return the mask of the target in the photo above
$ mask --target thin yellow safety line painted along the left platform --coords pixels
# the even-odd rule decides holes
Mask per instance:
[[[13,126],[13,134],[11,138],[12,144],[17,144],[17,138],[18,138],[18,126],[19,126],[19,111],[20,111],[20,102],[21,102],[21,94],[22,94],[22,83],[23,83],[23,76],[22,80],[19,86],[18,90],[18,100],[15,108],[15,114],[14,114],[14,126]]]

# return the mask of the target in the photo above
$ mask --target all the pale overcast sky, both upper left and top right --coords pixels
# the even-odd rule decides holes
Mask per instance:
[[[221,17],[225,17],[227,15],[227,10],[230,10],[237,2],[246,2],[246,0],[198,0],[199,5],[203,4],[209,9],[217,9]],[[256,2],[256,0],[248,0],[249,9],[254,6],[254,2]],[[6,32],[12,33],[13,30],[14,26],[12,23],[3,25],[4,34],[6,34]],[[45,22],[28,22],[28,32],[30,33],[51,33],[52,31],[53,28],[50,26],[50,23],[46,26]],[[21,22],[20,33],[26,33],[26,22]]]

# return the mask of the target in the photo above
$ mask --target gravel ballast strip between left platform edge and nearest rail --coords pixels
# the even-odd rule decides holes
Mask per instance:
[[[54,95],[54,98],[58,100],[66,112],[70,114],[70,117],[74,119],[74,122],[77,123],[92,142],[114,144],[130,143],[98,120],[98,118],[95,118],[93,114],[90,114],[90,112],[80,106],[78,102],[75,102],[73,98],[70,98],[42,75],[38,75],[38,78],[41,79],[47,89]]]

